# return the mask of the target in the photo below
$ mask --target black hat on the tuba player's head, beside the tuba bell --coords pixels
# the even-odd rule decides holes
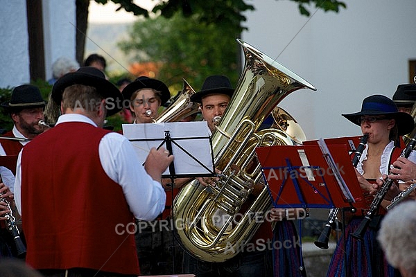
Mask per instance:
[[[191,101],[201,103],[202,98],[209,94],[226,94],[231,97],[232,93],[234,89],[227,76],[212,75],[205,79],[202,89],[191,96]]]

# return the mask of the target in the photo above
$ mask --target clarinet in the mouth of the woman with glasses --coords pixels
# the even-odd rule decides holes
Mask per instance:
[[[354,158],[352,159],[352,165],[354,168],[357,167],[358,161],[360,161],[360,157],[361,154],[363,154],[367,140],[368,134],[364,134],[364,136],[362,136],[360,139],[360,144],[358,144],[358,148],[356,149],[356,152],[354,152]],[[324,224],[324,229],[322,229],[322,233],[320,234],[318,240],[314,242],[316,247],[319,247],[320,249],[328,249],[329,235],[334,227],[336,222],[336,215],[338,214],[339,210],[339,208],[331,208],[329,211],[328,220]]]

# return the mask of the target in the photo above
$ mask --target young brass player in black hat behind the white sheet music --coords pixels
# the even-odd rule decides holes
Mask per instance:
[[[130,82],[121,93],[125,100],[129,100],[127,102],[135,117],[133,124],[153,123],[157,118],[159,107],[171,98],[171,93],[164,82],[146,76],[140,76]],[[171,182],[170,179],[166,181]],[[172,193],[172,188],[167,186],[164,188],[166,191],[164,212],[153,222],[137,221],[138,228],[135,234],[137,256],[140,271],[144,275],[177,274],[181,271],[182,249],[175,242],[172,230],[167,227],[171,226],[167,222],[171,211],[172,194],[175,197],[178,190],[174,188]]]

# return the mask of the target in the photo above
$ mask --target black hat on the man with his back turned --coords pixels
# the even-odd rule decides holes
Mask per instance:
[[[111,82],[105,79],[105,75],[99,69],[92,66],[80,67],[75,72],[63,75],[53,84],[52,99],[57,105],[62,101],[62,93],[64,89],[73,84],[83,84],[85,86],[95,87],[97,92],[107,99],[107,115],[116,114],[122,108],[123,96],[119,89]],[[110,101],[108,101],[110,100]]]

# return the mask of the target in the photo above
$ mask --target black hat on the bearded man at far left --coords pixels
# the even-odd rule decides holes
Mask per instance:
[[[45,107],[45,101],[37,87],[31,84],[22,84],[12,90],[12,98],[8,102],[3,102],[1,107],[8,109]]]

